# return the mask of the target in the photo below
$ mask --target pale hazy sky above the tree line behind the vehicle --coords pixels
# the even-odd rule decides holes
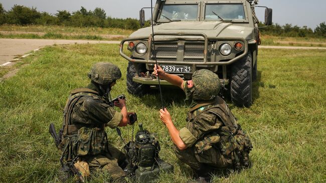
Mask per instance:
[[[155,0],[152,0],[155,4]],[[36,7],[40,12],[56,14],[57,10],[74,12],[84,7],[87,10],[102,8],[106,16],[112,18],[139,18],[139,10],[150,7],[150,0],[0,0],[5,10],[10,10],[15,4]],[[279,25],[292,24],[299,27],[307,26],[314,29],[326,22],[325,0],[260,0],[259,6],[273,9],[273,23]],[[256,14],[264,21],[264,9],[257,8]],[[145,19],[150,18],[147,11]]]

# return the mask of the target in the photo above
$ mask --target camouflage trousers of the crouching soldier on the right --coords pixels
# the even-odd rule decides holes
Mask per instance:
[[[201,154],[196,153],[195,146],[179,150],[175,146],[176,156],[195,170],[197,174],[208,174],[219,168],[232,166],[231,157],[224,156],[218,149],[211,148]]]

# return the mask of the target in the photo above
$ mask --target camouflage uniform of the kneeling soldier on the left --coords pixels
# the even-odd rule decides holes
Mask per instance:
[[[91,171],[105,170],[112,178],[119,179],[126,175],[119,166],[125,161],[125,155],[108,143],[104,127],[117,127],[123,116],[102,96],[103,92],[93,82],[87,88],[70,93],[64,110],[59,149],[63,161],[78,156],[88,163]]]

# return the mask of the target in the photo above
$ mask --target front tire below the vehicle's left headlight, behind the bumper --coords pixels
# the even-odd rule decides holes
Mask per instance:
[[[129,62],[127,67],[127,91],[132,95],[141,96],[149,90],[149,86],[133,82],[132,78],[135,76],[136,68],[132,62]]]

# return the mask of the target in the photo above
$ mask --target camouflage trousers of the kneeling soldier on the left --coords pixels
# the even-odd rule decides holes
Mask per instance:
[[[108,153],[82,156],[81,158],[88,163],[90,171],[106,171],[110,174],[114,182],[124,182],[124,178],[121,177],[126,176],[126,173],[122,169],[126,165],[126,157],[120,150],[112,145],[109,144],[108,147]]]

